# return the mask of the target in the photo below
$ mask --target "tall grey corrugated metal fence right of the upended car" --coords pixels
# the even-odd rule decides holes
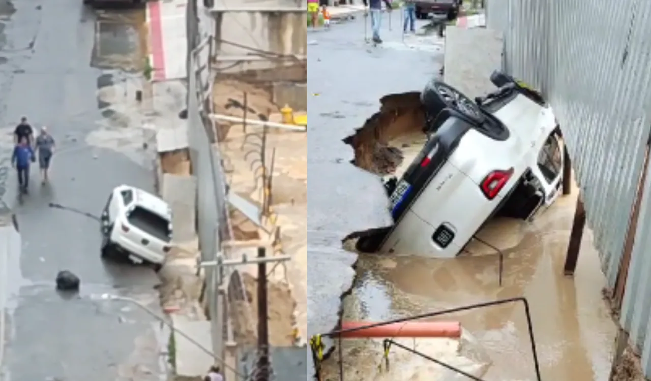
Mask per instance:
[[[507,72],[543,90],[561,124],[607,287],[620,272],[651,118],[651,2],[489,0]],[[646,177],[620,322],[651,376],[651,176]]]

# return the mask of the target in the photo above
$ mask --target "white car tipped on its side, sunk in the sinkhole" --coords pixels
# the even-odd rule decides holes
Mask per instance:
[[[395,224],[362,252],[454,257],[493,215],[533,220],[562,183],[560,132],[538,92],[502,73],[475,101],[433,79],[421,93],[430,138],[400,181],[387,181]]]

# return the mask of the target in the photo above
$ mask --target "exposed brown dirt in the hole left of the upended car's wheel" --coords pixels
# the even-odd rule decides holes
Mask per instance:
[[[406,143],[398,148],[396,142],[414,135],[424,137],[425,115],[420,92],[389,94],[380,104],[380,111],[343,141],[355,150],[352,164],[384,176],[395,173],[404,160]]]

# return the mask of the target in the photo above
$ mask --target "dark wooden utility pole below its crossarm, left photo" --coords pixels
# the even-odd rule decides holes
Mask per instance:
[[[265,257],[264,246],[258,247],[258,259]],[[270,381],[269,305],[267,303],[267,263],[258,262],[258,363],[255,381]]]

